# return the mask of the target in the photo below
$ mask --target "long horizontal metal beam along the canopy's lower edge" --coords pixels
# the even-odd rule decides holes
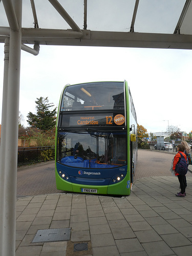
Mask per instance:
[[[83,32],[79,38],[79,32],[68,30],[58,30],[56,33],[55,30],[44,32],[42,29],[22,29],[22,42],[34,44],[35,41],[39,41],[40,45],[192,49],[192,35],[90,30]]]

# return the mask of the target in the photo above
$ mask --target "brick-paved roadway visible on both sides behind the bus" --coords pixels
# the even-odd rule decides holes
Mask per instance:
[[[139,150],[134,181],[143,177],[172,176],[169,169],[174,155],[162,151]],[[192,174],[188,172],[187,176]],[[55,193],[63,191],[56,188],[54,162],[18,168],[17,198]]]

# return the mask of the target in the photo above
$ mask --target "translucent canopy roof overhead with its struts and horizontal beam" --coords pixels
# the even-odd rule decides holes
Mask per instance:
[[[192,49],[191,0],[25,0],[22,16],[23,44]]]

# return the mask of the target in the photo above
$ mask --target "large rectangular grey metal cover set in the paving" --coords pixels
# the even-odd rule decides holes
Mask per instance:
[[[69,240],[71,228],[39,229],[32,243]]]

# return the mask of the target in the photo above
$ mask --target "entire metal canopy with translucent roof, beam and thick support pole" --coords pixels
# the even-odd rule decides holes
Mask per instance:
[[[34,55],[40,45],[192,49],[191,22],[191,0],[0,0],[0,255],[15,255],[21,49]]]

